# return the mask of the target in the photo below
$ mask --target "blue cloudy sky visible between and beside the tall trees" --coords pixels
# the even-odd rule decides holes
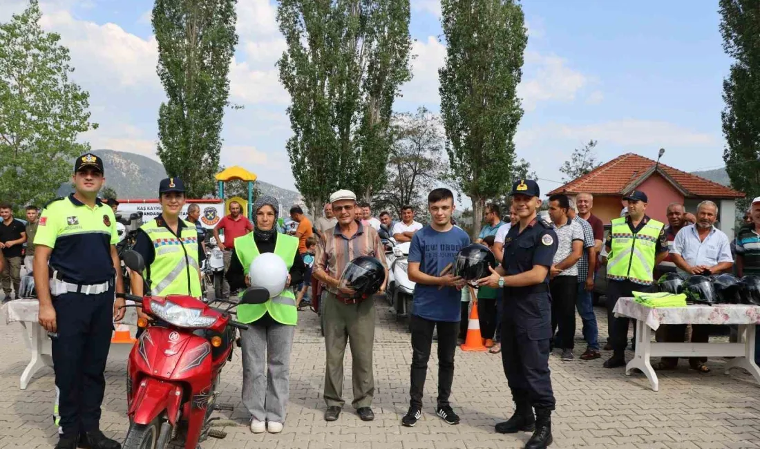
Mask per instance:
[[[74,80],[90,91],[97,131],[93,148],[157,158],[157,111],[164,98],[156,75],[157,46],[147,0],[40,1],[43,27],[71,49]],[[395,103],[399,112],[439,111],[440,42],[437,0],[412,0],[413,80]],[[635,152],[688,171],[723,165],[720,131],[724,55],[717,2],[527,0],[529,30],[519,93],[525,115],[518,157],[530,162],[543,191],[562,179],[572,149],[599,141],[606,161]],[[24,0],[0,0],[0,21],[23,11]],[[230,71],[233,103],[224,119],[222,163],[294,188],[285,142],[289,96],[274,63],[285,49],[276,2],[238,0],[239,45]]]

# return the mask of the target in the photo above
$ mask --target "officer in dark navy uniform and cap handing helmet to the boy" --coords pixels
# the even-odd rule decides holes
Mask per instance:
[[[502,264],[480,280],[481,286],[504,287],[502,363],[515,414],[499,422],[496,432],[535,430],[527,449],[552,443],[550,416],[555,403],[549,377],[549,267],[557,251],[557,236],[536,216],[539,194],[535,181],[521,179],[512,185],[510,196],[520,222],[505,237]]]

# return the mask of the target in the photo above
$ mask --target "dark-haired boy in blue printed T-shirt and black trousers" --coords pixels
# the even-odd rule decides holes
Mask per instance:
[[[423,388],[430,358],[433,330],[438,328],[438,406],[435,414],[448,424],[459,416],[448,403],[454,381],[454,351],[461,318],[460,290],[464,282],[454,277],[454,257],[470,244],[470,236],[451,224],[454,194],[436,188],[428,195],[431,223],[415,232],[409,248],[409,279],[416,283],[410,317],[412,368],[410,407],[401,424],[413,427],[422,416]],[[445,271],[448,267],[448,270]]]

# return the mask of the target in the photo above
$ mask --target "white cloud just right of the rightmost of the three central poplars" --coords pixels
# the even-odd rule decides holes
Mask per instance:
[[[542,101],[575,100],[578,90],[588,84],[588,77],[569,68],[565,58],[534,51],[526,51],[524,58],[526,71],[534,72],[532,77],[523,77],[518,86],[518,95],[527,111],[536,109]]]

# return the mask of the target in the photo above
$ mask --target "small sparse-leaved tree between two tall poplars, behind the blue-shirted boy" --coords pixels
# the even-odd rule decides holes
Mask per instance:
[[[378,191],[375,210],[401,217],[401,207],[409,204],[420,215],[426,213],[426,195],[445,172],[444,138],[441,120],[424,107],[415,114],[394,115],[388,157],[388,182]]]

